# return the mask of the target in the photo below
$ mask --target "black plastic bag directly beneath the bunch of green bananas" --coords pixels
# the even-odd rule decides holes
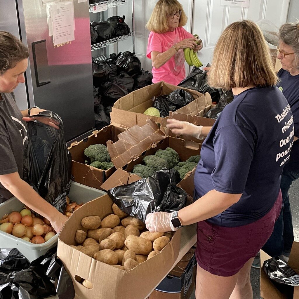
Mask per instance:
[[[207,65],[209,66],[209,65]],[[187,76],[178,86],[194,89],[202,94],[208,92],[211,95],[212,101],[218,103],[220,94],[218,89],[214,89],[207,83],[207,71],[202,71],[200,68],[193,67],[189,76]]]

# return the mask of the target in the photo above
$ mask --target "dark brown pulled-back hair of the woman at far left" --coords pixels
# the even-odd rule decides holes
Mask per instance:
[[[0,31],[0,75],[29,57],[28,48],[7,31]]]

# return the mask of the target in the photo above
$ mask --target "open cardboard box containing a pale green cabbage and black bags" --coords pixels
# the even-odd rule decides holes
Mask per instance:
[[[179,112],[179,110],[177,110],[179,113],[184,113],[183,111],[193,112],[195,111],[195,107],[196,109],[198,109],[198,111],[201,111],[205,109],[205,107],[212,104],[212,99],[209,93],[201,94],[198,91],[192,89],[170,85],[161,81],[159,83],[151,84],[144,88],[135,90],[117,100],[112,108],[112,112],[110,113],[111,123],[126,128],[131,128],[135,124],[144,126],[148,117],[157,123],[161,123],[163,118],[148,116],[144,115],[143,113],[146,109],[153,106],[154,97],[161,94],[170,94],[170,92],[178,88],[187,90],[195,99],[187,105],[191,105],[190,108],[184,109],[185,107],[187,107],[185,106],[179,109],[184,109],[182,110],[182,112]]]

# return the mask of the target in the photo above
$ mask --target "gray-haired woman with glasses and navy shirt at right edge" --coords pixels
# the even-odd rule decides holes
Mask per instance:
[[[280,189],[283,209],[275,223],[273,234],[263,247],[272,257],[282,255],[288,261],[294,241],[292,213],[289,202],[289,188],[299,178],[299,22],[286,23],[279,30],[279,53],[282,69],[278,72],[280,82],[277,87],[286,97],[294,118],[295,137],[291,155],[286,157],[281,175]]]

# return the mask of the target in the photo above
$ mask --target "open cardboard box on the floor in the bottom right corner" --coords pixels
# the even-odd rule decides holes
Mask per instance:
[[[293,242],[292,251],[288,265],[299,274],[299,242]],[[266,272],[263,269],[265,260],[269,260],[271,257],[263,250],[260,251],[260,294],[263,299],[286,299],[286,296],[282,294],[267,277]],[[294,287],[293,299],[299,299],[299,286]]]

